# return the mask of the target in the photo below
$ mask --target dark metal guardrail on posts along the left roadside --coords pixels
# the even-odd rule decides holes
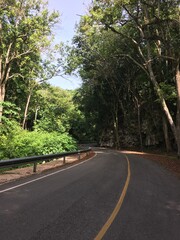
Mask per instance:
[[[39,155],[39,156],[31,156],[31,157],[23,157],[23,158],[12,158],[8,160],[0,160],[0,168],[6,167],[14,167],[17,165],[22,165],[25,163],[34,163],[33,172],[36,172],[37,163],[45,160],[51,160],[56,158],[63,157],[63,163],[65,164],[65,158],[71,155],[78,155],[78,159],[80,160],[81,153],[89,153],[92,151],[91,148],[85,150],[79,150],[74,152],[63,152],[63,153],[56,153],[56,154],[48,154],[48,155]]]

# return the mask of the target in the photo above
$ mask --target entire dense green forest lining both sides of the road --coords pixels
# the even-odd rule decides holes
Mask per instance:
[[[72,46],[42,0],[0,1],[0,159],[97,142],[180,156],[180,14],[175,0],[94,0]],[[82,86],[53,87],[79,72]]]

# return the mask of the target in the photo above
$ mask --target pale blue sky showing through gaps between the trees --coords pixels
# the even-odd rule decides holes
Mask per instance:
[[[55,41],[71,43],[74,36],[75,24],[79,22],[80,16],[87,12],[91,0],[48,0],[50,11],[56,10],[61,14],[61,23],[55,29]],[[54,86],[64,89],[75,89],[81,85],[79,77],[67,76],[66,79],[55,77],[49,80]]]

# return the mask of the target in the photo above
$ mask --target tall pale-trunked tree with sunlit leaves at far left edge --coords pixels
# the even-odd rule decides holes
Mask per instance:
[[[42,0],[2,0],[0,5],[1,119],[7,82],[21,75],[20,68],[15,66],[40,56],[50,44],[51,30],[59,14],[50,14]]]

